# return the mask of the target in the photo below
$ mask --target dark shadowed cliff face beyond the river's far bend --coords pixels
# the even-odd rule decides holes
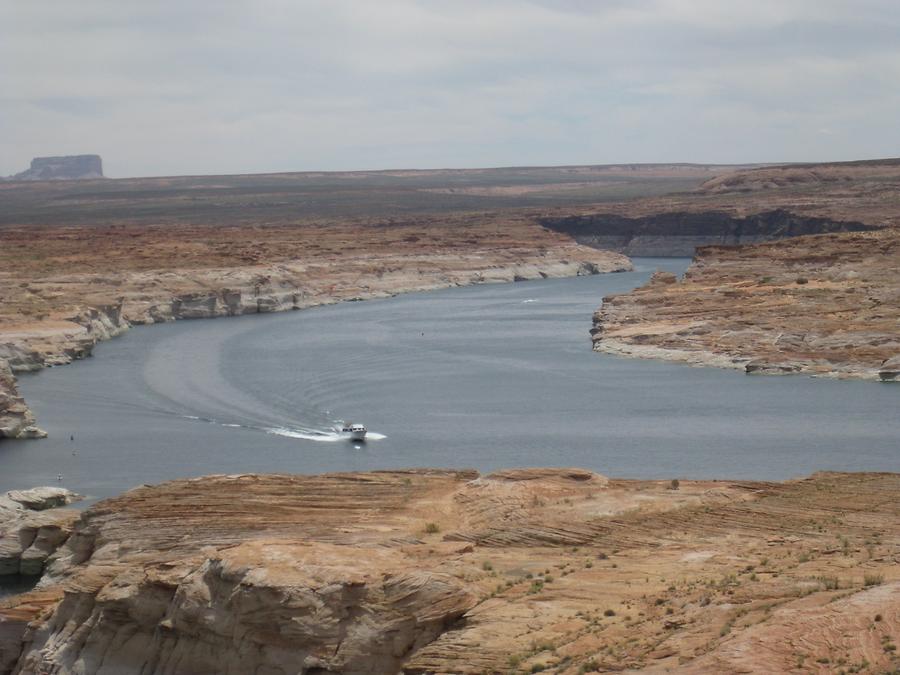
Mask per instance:
[[[692,257],[701,246],[737,246],[826,232],[877,229],[861,222],[797,215],[784,209],[747,216],[730,211],[675,211],[628,217],[596,213],[545,217],[541,225],[579,244],[629,256]]]

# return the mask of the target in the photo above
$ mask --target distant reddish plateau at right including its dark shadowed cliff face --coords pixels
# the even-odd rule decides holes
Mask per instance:
[[[582,243],[630,255],[689,256],[696,246],[900,227],[898,198],[900,160],[873,160],[732,171],[689,192],[537,217]]]

